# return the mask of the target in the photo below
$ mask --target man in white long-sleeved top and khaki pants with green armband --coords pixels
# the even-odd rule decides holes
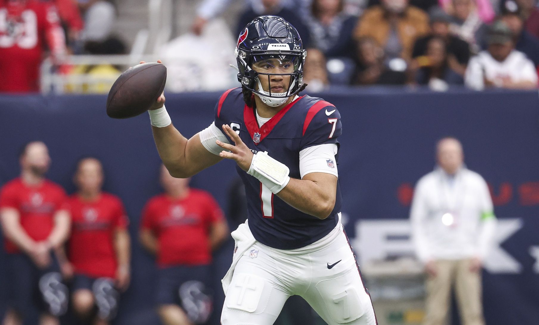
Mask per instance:
[[[462,325],[484,325],[481,265],[496,227],[492,199],[481,175],[464,166],[462,145],[443,138],[438,166],[414,191],[413,242],[427,273],[424,325],[444,325],[455,288]]]

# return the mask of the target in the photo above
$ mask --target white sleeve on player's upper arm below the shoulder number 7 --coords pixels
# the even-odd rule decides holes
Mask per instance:
[[[327,173],[338,177],[335,154],[337,145],[334,143],[324,143],[300,151],[301,178],[308,173]]]

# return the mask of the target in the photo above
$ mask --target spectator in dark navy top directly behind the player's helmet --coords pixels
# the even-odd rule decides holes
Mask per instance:
[[[238,19],[238,25],[236,27],[236,35],[234,36],[239,36],[245,29],[245,26],[247,26],[247,24],[250,23],[254,18],[262,15],[275,15],[284,18],[288,23],[291,23],[296,30],[298,30],[301,40],[303,41],[303,46],[308,46],[310,44],[310,34],[307,26],[303,24],[301,19],[294,11],[286,8],[281,0],[261,0],[260,2],[262,8],[258,9],[255,6],[251,6],[249,9],[241,13],[240,18]]]

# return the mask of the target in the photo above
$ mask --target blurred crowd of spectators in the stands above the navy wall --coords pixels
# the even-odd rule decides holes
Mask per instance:
[[[203,1],[191,26],[194,38],[176,46],[199,43],[196,37],[231,2]],[[260,15],[278,15],[296,27],[308,48],[304,79],[309,91],[375,84],[427,85],[434,90],[454,84],[477,90],[537,87],[535,0],[250,0],[244,8],[237,22],[229,23],[236,36]],[[66,53],[126,52],[126,45],[112,34],[115,5],[106,0],[0,0],[0,12],[0,70],[8,76],[0,82],[0,91],[37,91],[45,49],[53,60]],[[215,42],[221,38],[212,36]],[[202,47],[205,59],[219,53]],[[112,65],[60,69],[119,72]]]

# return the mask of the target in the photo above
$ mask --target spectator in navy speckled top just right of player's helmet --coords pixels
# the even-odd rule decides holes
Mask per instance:
[[[344,0],[313,0],[307,25],[313,39],[312,46],[321,50],[326,58],[354,57],[352,34],[356,24],[357,17],[344,11]],[[301,31],[298,32],[303,39]]]

